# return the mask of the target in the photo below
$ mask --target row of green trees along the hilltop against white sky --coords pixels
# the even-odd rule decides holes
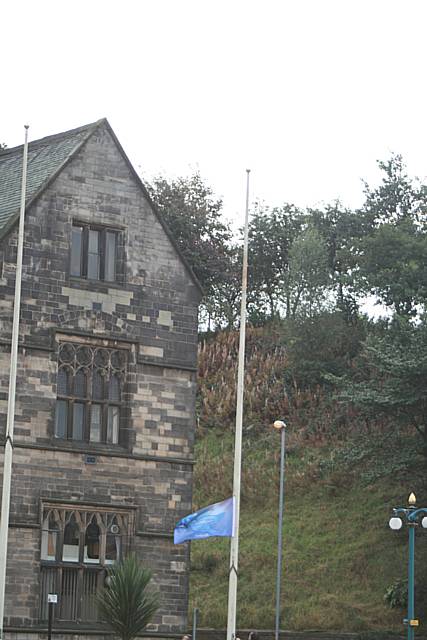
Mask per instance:
[[[379,162],[382,180],[365,184],[365,203],[339,201],[302,210],[255,205],[249,223],[248,318],[254,325],[338,310],[355,325],[371,296],[392,313],[414,317],[427,296],[427,189],[402,157]],[[233,239],[222,202],[199,174],[149,186],[205,297],[203,325],[238,324],[242,237]]]

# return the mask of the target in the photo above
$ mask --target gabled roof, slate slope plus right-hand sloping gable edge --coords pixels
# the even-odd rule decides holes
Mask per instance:
[[[114,131],[106,118],[97,120],[78,129],[71,129],[53,136],[47,136],[40,140],[34,140],[28,145],[26,207],[32,204],[48,185],[56,178],[61,169],[74,157],[84,143],[90,138],[99,126],[107,127],[115,144],[117,145],[124,161],[128,165],[133,177],[149,201],[155,215],[159,219],[165,233],[178,252],[182,262],[189,271],[190,277],[199,289],[203,290],[194,275],[187,260],[182,255],[175,239],[166,226],[163,217],[157,211],[147,189],[133,168],[129,158],[125,154]],[[22,182],[23,145],[0,151],[0,239],[5,236],[19,219]]]

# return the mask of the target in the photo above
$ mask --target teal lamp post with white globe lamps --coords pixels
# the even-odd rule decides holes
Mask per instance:
[[[403,624],[408,627],[408,640],[414,640],[414,627],[418,627],[419,621],[415,618],[415,528],[420,524],[427,529],[427,508],[416,506],[417,499],[414,493],[408,498],[407,507],[397,507],[393,509],[393,516],[390,518],[389,526],[393,531],[399,531],[405,522],[409,533],[408,552],[408,617],[403,620]],[[423,517],[422,517],[423,516]]]

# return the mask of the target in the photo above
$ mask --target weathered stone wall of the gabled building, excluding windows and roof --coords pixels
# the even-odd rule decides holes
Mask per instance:
[[[70,276],[73,220],[120,230],[120,283]],[[13,230],[0,244],[3,434],[16,238]],[[15,631],[8,637],[21,640],[40,623],[40,509],[53,499],[135,509],[133,548],[161,593],[152,630],[186,627],[188,550],[175,547],[171,534],[191,510],[199,298],[108,127],[101,126],[26,215],[5,608]],[[121,446],[54,437],[61,335],[127,345]]]

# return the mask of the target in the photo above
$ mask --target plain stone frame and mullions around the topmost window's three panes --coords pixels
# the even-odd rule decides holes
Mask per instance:
[[[79,273],[72,272],[73,260],[73,231],[75,228],[81,228],[81,248],[80,248],[80,269]],[[97,278],[88,276],[89,262],[89,235],[90,231],[99,233],[99,276]],[[86,282],[104,283],[114,286],[123,284],[125,281],[124,270],[124,228],[120,226],[102,225],[87,220],[74,219],[71,224],[70,233],[70,257],[69,257],[69,274],[70,278],[84,280]],[[114,277],[107,279],[106,271],[106,253],[107,253],[107,234],[115,237],[115,255],[114,255]]]

